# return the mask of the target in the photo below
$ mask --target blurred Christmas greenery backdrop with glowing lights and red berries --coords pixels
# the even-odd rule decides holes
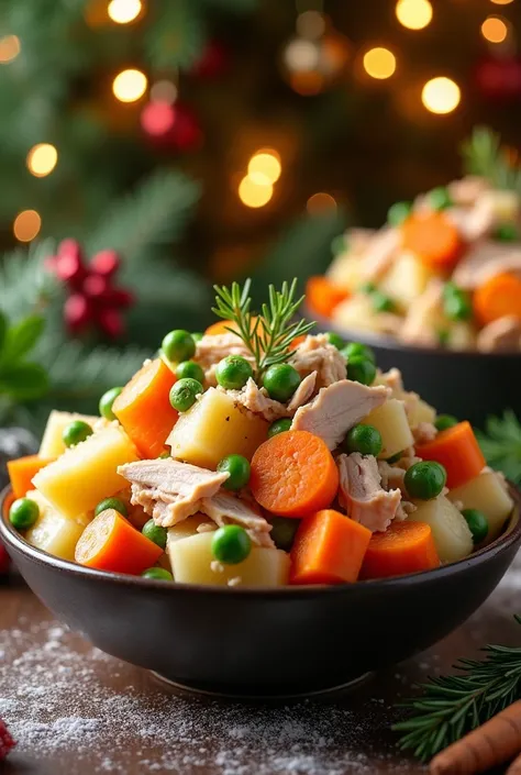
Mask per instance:
[[[520,3],[2,0],[0,424],[91,410],[212,281],[303,284],[476,124],[519,146]]]

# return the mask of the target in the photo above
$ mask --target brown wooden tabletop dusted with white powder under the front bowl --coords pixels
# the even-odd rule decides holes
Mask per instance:
[[[0,585],[0,716],[19,745],[2,775],[421,773],[396,749],[393,705],[487,642],[519,643],[521,555],[487,604],[429,652],[350,695],[286,706],[166,691],[65,631],[20,580]],[[443,601],[440,601],[443,605]],[[136,623],[138,625],[138,623]],[[391,633],[389,633],[391,638]],[[165,644],[168,647],[168,644]],[[385,644],[383,644],[385,647]],[[274,643],[276,658],[276,643]]]

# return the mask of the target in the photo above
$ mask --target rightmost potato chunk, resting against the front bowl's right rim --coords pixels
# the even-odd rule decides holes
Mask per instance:
[[[448,492],[452,501],[463,503],[462,509],[479,509],[488,519],[487,542],[501,532],[513,509],[513,501],[499,474],[485,472]]]

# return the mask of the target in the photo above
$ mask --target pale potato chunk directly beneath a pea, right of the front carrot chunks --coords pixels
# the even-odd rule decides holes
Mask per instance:
[[[442,563],[455,563],[474,549],[473,536],[465,518],[445,496],[414,501],[418,509],[409,519],[431,525],[434,543]]]

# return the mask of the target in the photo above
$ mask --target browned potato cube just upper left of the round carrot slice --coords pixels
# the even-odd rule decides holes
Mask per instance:
[[[251,460],[267,431],[262,417],[239,406],[229,394],[210,388],[179,414],[166,444],[176,460],[214,469],[232,453]]]

